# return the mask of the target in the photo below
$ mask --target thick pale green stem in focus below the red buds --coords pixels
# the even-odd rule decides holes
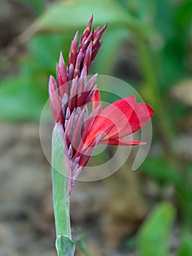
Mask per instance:
[[[64,129],[61,124],[55,124],[52,138],[52,179],[53,208],[55,215],[56,249],[58,256],[73,256],[74,241],[72,241],[69,214],[69,165],[65,153]]]

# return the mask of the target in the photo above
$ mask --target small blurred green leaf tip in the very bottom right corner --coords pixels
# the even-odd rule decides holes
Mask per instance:
[[[189,256],[192,255],[192,236],[187,233],[183,236],[182,242],[180,244],[177,256]]]

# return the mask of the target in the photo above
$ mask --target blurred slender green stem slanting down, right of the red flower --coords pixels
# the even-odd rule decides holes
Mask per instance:
[[[145,99],[147,99],[147,101],[150,102],[155,109],[158,131],[164,143],[166,157],[169,158],[169,162],[174,162],[174,156],[172,154],[172,139],[174,137],[174,129],[171,127],[169,118],[166,115],[166,110],[162,104],[164,101],[161,99],[159,83],[155,74],[153,64],[154,60],[152,59],[150,47],[141,37],[137,37],[137,50],[139,53],[142,74],[145,79],[142,94],[145,95]]]

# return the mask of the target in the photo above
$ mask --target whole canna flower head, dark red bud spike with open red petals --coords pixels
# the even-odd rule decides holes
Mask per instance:
[[[141,129],[153,116],[153,109],[137,103],[134,96],[119,99],[102,110],[96,75],[87,80],[88,70],[101,47],[101,36],[107,24],[91,30],[93,15],[77,44],[72,40],[67,66],[62,53],[57,65],[57,82],[50,76],[50,108],[55,127],[63,135],[65,157],[69,160],[70,192],[74,181],[91,157],[97,144],[122,146],[145,145],[123,140]],[[88,106],[93,110],[88,115]]]

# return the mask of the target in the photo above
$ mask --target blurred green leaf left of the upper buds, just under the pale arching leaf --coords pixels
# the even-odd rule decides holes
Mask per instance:
[[[23,75],[38,76],[55,75],[59,53],[63,52],[67,60],[69,48],[74,34],[39,34],[28,42],[28,57],[20,62],[20,72]],[[35,75],[34,75],[35,74]]]

